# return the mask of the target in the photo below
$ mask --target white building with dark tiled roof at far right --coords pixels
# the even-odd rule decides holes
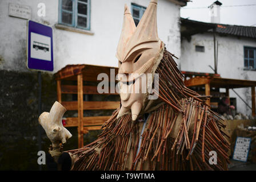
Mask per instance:
[[[182,71],[214,73],[215,30],[217,73],[222,78],[256,81],[256,27],[203,23],[189,19],[181,19],[181,22]],[[229,90],[230,97],[237,98],[237,111],[250,115],[249,107],[233,90]],[[234,90],[251,106],[251,88]]]

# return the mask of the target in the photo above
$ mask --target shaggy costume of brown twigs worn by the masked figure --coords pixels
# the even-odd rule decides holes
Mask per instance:
[[[115,110],[97,140],[68,151],[77,155],[73,170],[227,169],[229,142],[218,115],[186,88],[171,53],[163,52],[155,72],[158,107],[144,114],[144,122],[132,121],[131,114],[117,119]],[[217,152],[217,165],[209,164],[210,151]]]

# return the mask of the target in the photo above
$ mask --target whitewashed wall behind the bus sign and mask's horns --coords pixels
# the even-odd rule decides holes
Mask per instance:
[[[37,15],[37,5],[46,5],[46,16]],[[32,18],[53,27],[54,72],[67,64],[94,64],[118,67],[115,58],[119,35],[122,30],[123,7],[131,2],[142,6],[150,0],[91,0],[91,32],[86,35],[59,30],[58,0],[5,0],[0,1],[0,69],[28,71],[26,68],[27,21],[9,16],[9,3],[30,6]],[[158,2],[158,34],[167,49],[180,56],[178,5],[167,0]]]

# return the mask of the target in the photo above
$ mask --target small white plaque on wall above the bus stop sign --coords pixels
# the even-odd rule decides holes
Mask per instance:
[[[31,8],[30,6],[9,3],[9,16],[31,19]]]

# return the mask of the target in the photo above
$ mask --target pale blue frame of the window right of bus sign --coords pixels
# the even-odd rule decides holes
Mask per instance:
[[[65,26],[73,27],[73,28],[79,28],[82,30],[90,30],[91,29],[91,0],[87,0],[87,3],[82,2],[80,0],[70,0],[70,1],[72,1],[72,11],[63,10],[62,9],[62,0],[59,0],[58,23],[63,24]],[[87,5],[87,15],[78,14],[78,3]],[[72,13],[72,23],[71,24],[62,22],[62,11],[66,12],[66,13]],[[87,27],[78,26],[78,23],[77,23],[78,16],[87,17]]]

